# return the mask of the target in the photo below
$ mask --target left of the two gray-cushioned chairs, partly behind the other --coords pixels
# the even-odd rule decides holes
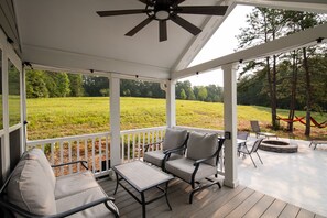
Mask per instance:
[[[176,130],[167,128],[163,141],[145,145],[143,161],[152,163],[164,170],[165,155],[167,151],[185,146],[187,137],[187,130]],[[148,151],[150,146],[154,146],[156,144],[162,144],[162,150]],[[173,153],[171,155],[171,160],[182,157],[183,150],[178,151],[179,152]]]

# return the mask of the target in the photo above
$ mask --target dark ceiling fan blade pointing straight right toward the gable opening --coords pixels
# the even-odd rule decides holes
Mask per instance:
[[[178,7],[178,13],[192,13],[203,15],[225,15],[228,6],[187,6]]]

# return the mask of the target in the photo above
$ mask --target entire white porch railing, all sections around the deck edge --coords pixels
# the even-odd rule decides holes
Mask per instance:
[[[188,131],[218,133],[224,135],[224,131],[176,127]],[[120,159],[121,162],[131,162],[142,160],[144,145],[162,141],[166,127],[144,128],[135,130],[123,130],[120,132]],[[26,149],[40,148],[46,154],[51,164],[67,163],[77,160],[88,161],[88,167],[96,176],[102,176],[109,173],[110,168],[110,132],[54,138],[45,140],[28,141]],[[161,150],[160,145],[155,150]],[[220,153],[218,172],[224,175],[224,148]],[[83,167],[67,166],[56,171],[56,175],[66,175],[73,172],[79,172]]]

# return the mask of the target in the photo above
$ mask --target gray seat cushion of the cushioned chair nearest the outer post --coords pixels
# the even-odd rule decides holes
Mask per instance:
[[[194,164],[194,160],[183,157],[183,159],[167,161],[165,164],[165,170],[174,174],[175,176],[184,179],[185,182],[190,183],[192,174],[195,168],[193,164]],[[205,177],[215,175],[216,173],[217,173],[216,166],[211,166],[209,164],[200,164],[195,176],[195,182],[200,181]]]

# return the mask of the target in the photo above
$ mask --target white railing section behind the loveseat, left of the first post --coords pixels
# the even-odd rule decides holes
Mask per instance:
[[[108,173],[110,167],[109,156],[110,132],[94,133],[45,140],[28,141],[26,149],[40,148],[46,154],[50,163],[62,164],[77,160],[88,161],[88,167],[96,176]],[[55,172],[57,176],[79,172],[80,165],[61,167]]]

